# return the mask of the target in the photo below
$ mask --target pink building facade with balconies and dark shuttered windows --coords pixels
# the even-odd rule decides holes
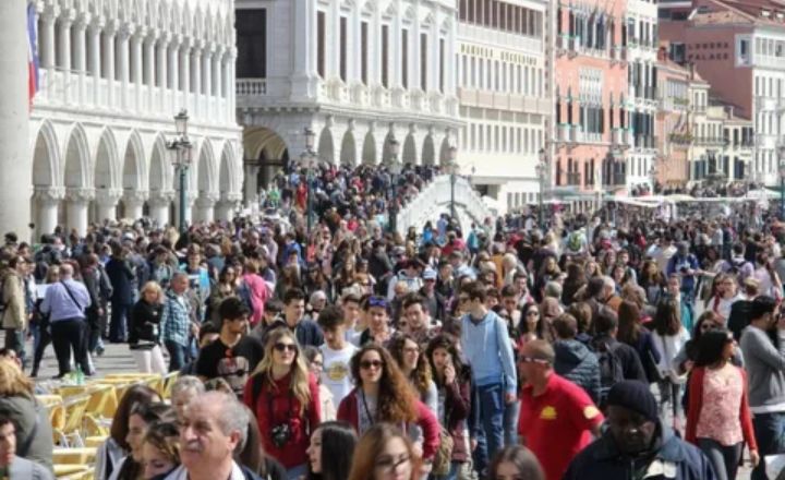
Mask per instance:
[[[632,142],[626,9],[626,1],[601,0],[557,7],[555,191],[582,192],[588,200],[602,190],[626,190],[625,151]]]

